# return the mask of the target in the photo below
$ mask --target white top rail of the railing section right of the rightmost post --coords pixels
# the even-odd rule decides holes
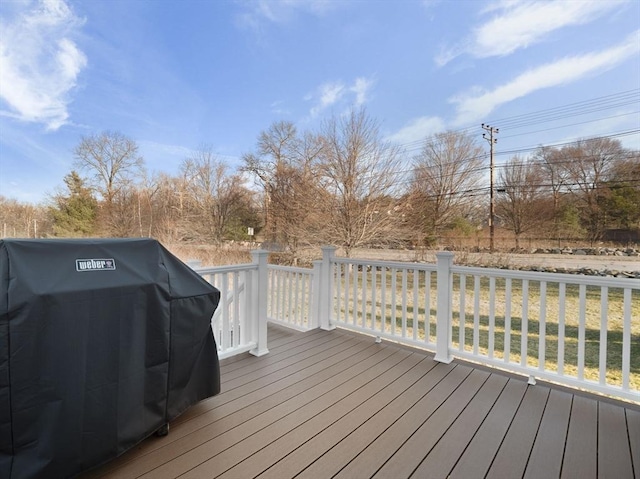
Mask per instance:
[[[477,266],[451,267],[452,273],[493,276],[511,279],[529,279],[550,283],[585,284],[590,286],[608,286],[610,288],[640,289],[640,280],[633,278],[614,278],[610,276],[590,276],[582,274],[548,273],[542,271],[521,271],[501,268],[483,268]]]

